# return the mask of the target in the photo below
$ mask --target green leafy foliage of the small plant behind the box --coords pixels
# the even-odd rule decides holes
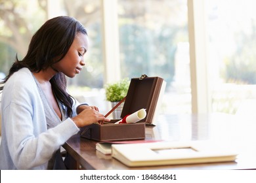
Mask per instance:
[[[106,90],[106,100],[110,102],[121,101],[127,95],[129,84],[130,81],[128,78],[112,84],[106,84],[104,87]]]

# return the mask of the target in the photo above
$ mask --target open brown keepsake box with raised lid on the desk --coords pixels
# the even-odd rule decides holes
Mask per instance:
[[[146,118],[136,124],[114,124],[119,119],[104,124],[91,124],[81,129],[81,137],[95,141],[124,141],[145,139],[145,125],[152,125],[165,82],[160,77],[132,78],[121,112],[121,118],[141,108],[146,108]]]

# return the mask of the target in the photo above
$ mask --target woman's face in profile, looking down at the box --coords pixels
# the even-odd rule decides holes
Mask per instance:
[[[88,44],[88,36],[83,33],[77,33],[64,58],[53,64],[54,70],[62,72],[70,78],[79,74],[85,65],[83,56],[88,50]]]

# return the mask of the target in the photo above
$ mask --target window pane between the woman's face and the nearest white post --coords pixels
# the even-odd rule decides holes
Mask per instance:
[[[102,51],[102,15],[100,0],[61,0],[60,14],[76,18],[89,35],[89,50],[85,54],[85,67],[79,75],[68,78],[68,90],[81,103],[95,105],[100,112],[108,112],[104,90],[104,64]]]

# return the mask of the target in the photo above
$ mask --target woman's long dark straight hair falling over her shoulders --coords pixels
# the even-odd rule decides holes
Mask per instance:
[[[38,73],[64,58],[77,33],[87,35],[85,27],[75,18],[58,16],[47,20],[33,35],[24,59],[18,60],[16,56],[9,75],[0,83],[0,91],[4,88],[3,84],[19,69],[27,67],[31,72]],[[66,92],[66,76],[63,73],[57,73],[50,82],[54,95],[68,108],[68,116],[72,116],[73,99]]]

